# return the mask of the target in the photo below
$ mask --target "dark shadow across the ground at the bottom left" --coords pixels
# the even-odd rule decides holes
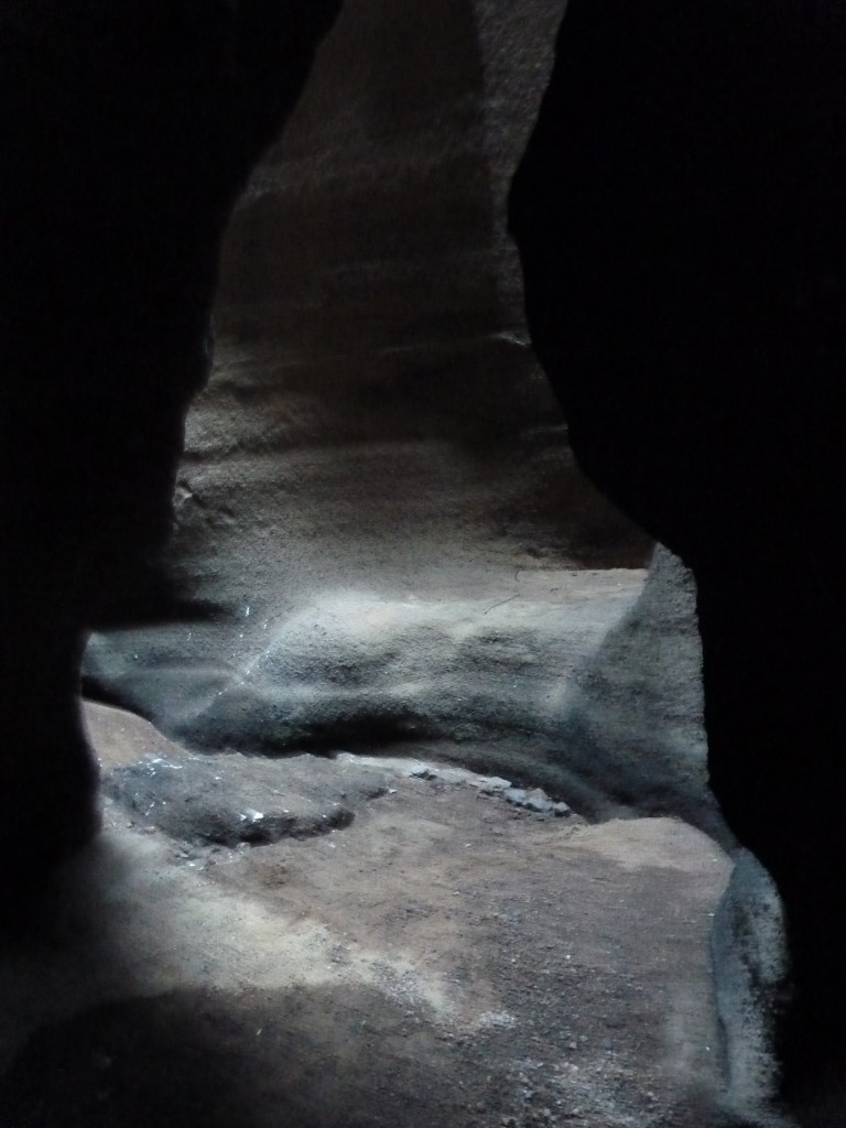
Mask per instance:
[[[389,1013],[377,992],[341,994],[338,1007],[337,992],[326,988],[173,992],[50,1024],[29,1038],[0,1085],[0,1122],[440,1128],[456,1122],[468,1096],[482,1098],[432,1084],[434,1047],[418,1056],[421,1036],[400,1005]],[[391,1036],[379,1055],[373,1033]],[[449,1054],[442,1043],[441,1055]]]

